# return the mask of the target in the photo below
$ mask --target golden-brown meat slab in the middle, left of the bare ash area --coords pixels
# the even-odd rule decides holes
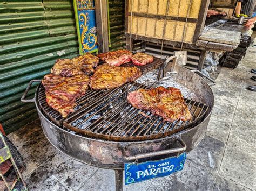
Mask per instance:
[[[92,89],[116,88],[136,80],[141,75],[142,72],[137,67],[116,67],[104,64],[98,66],[95,73],[90,76],[90,87]]]

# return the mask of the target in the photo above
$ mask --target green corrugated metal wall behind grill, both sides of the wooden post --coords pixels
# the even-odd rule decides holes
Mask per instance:
[[[118,49],[124,45],[124,4],[110,0],[109,8],[111,49]],[[20,101],[28,82],[42,79],[57,58],[77,55],[71,0],[0,1],[0,123],[7,133],[37,118],[35,104]]]

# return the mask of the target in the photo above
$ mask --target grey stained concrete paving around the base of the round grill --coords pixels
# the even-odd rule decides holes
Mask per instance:
[[[238,68],[222,68],[212,87],[215,106],[207,133],[187,155],[184,170],[130,186],[126,190],[255,190],[256,48],[250,47]],[[30,190],[114,190],[114,171],[81,164],[58,152],[39,121],[11,133],[25,159]]]

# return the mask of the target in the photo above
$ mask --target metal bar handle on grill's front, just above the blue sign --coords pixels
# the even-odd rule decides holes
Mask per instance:
[[[179,153],[179,152],[184,152],[187,149],[187,145],[184,143],[184,141],[178,137],[177,138],[178,142],[182,147],[178,148],[171,148],[167,149],[164,151],[156,151],[156,152],[151,152],[151,153],[145,153],[145,154],[137,154],[133,155],[131,157],[124,157],[127,161],[132,161],[132,160],[137,160],[137,159],[143,159],[143,158],[148,158],[148,157],[156,157],[159,155],[164,155],[164,154],[171,154],[171,153]]]

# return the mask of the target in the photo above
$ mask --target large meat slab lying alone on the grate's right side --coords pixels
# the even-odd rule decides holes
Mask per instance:
[[[134,108],[150,111],[153,115],[163,117],[165,121],[191,119],[190,111],[177,88],[162,86],[152,89],[139,89],[128,94],[127,99]]]

